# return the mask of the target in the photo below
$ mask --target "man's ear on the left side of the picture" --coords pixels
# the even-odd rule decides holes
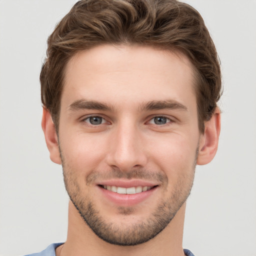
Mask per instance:
[[[50,159],[58,164],[61,164],[61,158],[58,147],[58,138],[55,130],[55,125],[52,121],[49,111],[43,107],[42,110],[42,130],[44,133],[47,148],[50,152]]]

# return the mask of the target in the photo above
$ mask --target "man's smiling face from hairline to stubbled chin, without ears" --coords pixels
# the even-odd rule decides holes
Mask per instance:
[[[71,201],[119,245],[157,235],[185,202],[200,141],[182,54],[103,45],[67,64],[58,142]]]

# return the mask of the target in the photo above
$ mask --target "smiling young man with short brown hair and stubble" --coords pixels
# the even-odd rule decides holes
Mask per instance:
[[[217,53],[175,0],[82,0],[48,38],[42,129],[70,197],[64,243],[33,255],[193,255],[196,164],[220,131]]]

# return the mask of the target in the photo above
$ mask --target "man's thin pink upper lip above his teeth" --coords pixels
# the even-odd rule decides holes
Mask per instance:
[[[98,181],[97,185],[110,185],[110,186],[119,186],[119,187],[133,187],[133,186],[156,186],[158,182],[142,180],[142,179],[107,179]]]

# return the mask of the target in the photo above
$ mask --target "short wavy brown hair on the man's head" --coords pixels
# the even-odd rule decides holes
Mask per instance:
[[[221,94],[219,60],[203,19],[193,7],[176,0],[81,0],[47,42],[41,101],[56,130],[66,63],[76,52],[100,44],[142,44],[185,54],[195,70],[200,132]]]

